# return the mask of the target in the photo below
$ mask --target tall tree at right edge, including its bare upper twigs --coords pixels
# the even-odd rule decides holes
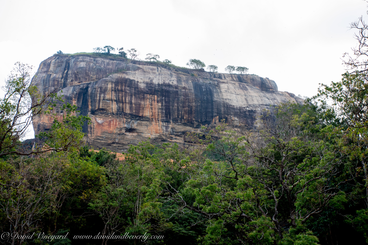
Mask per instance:
[[[368,241],[363,228],[368,224],[368,24],[360,17],[350,24],[350,28],[357,30],[355,39],[358,44],[352,48],[353,54],[343,55],[347,72],[339,82],[321,84],[314,99],[326,105],[329,111],[335,111],[342,122],[336,130],[341,132],[337,143],[341,154],[348,158],[346,166],[354,166],[351,172],[356,172],[357,180],[351,184],[355,194],[350,194],[350,200],[355,204],[353,207],[361,209],[344,217],[356,230],[363,232]]]

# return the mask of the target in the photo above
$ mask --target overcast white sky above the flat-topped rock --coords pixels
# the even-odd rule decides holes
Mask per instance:
[[[341,79],[340,58],[356,46],[348,26],[367,10],[362,0],[0,0],[0,84],[16,61],[36,71],[58,50],[110,45],[178,66],[246,66],[310,97]]]

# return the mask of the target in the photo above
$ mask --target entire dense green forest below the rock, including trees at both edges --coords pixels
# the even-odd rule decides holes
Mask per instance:
[[[350,69],[304,104],[264,111],[255,128],[217,123],[187,148],[141,142],[93,151],[89,122],[39,94],[16,63],[0,101],[4,244],[367,244],[367,29]],[[21,142],[34,116],[50,130]]]

